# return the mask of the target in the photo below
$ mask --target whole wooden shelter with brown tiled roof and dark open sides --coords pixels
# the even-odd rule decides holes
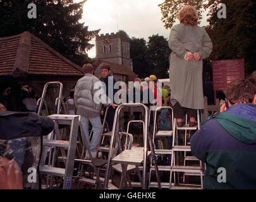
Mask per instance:
[[[13,102],[18,102],[21,85],[29,85],[41,95],[49,81],[61,81],[66,97],[82,76],[80,66],[30,32],[0,38],[0,93],[11,86]]]

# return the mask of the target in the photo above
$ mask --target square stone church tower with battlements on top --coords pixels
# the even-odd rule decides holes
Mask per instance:
[[[96,35],[96,58],[106,62],[113,62],[133,69],[130,58],[130,39],[128,35],[119,31]]]

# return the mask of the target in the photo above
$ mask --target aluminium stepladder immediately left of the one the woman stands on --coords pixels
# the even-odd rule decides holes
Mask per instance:
[[[168,110],[169,114],[171,115],[171,126],[173,129],[171,130],[157,130],[157,112],[162,112],[162,110]],[[169,138],[173,138],[173,135],[175,133],[174,129],[174,116],[173,116],[173,109],[171,107],[157,107],[154,112],[154,128],[153,128],[153,145],[156,146],[155,143],[157,143],[158,138],[164,138],[164,140],[168,141],[169,148],[155,148],[155,154],[156,155],[168,155],[168,165],[158,165],[159,172],[169,172],[169,181],[171,179],[171,159],[170,156],[172,154],[171,147],[172,145],[169,145]],[[149,188],[150,187],[159,187],[157,182],[152,181],[152,172],[155,171],[155,167],[152,166],[152,162],[150,163],[150,174],[149,174]],[[169,182],[161,182],[162,188],[168,188],[169,189]]]

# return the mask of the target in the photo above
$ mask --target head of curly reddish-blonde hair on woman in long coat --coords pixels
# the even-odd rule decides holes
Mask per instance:
[[[178,13],[178,19],[180,23],[184,25],[197,25],[198,24],[198,13],[193,6],[185,6],[180,9]]]

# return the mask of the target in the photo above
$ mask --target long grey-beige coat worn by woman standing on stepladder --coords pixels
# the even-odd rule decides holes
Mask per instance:
[[[175,25],[169,36],[169,76],[171,80],[171,103],[176,100],[182,107],[204,109],[203,59],[210,56],[212,42],[204,28],[197,25]],[[186,50],[198,52],[200,61],[186,61]]]

